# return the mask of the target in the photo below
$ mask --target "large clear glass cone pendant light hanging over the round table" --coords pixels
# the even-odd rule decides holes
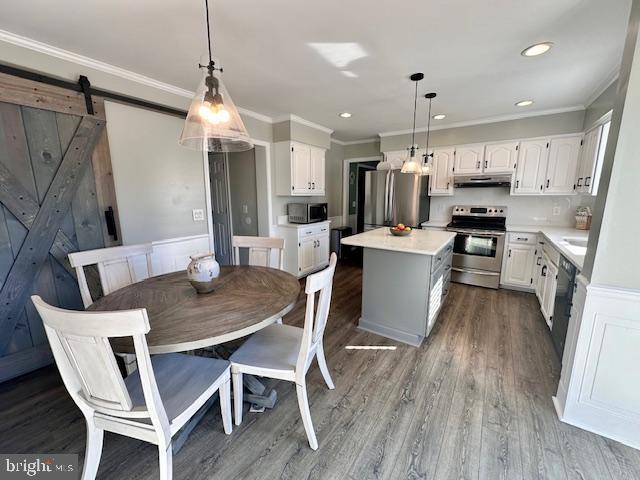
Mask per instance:
[[[209,1],[207,14],[207,42],[209,63],[199,65],[202,80],[189,107],[180,144],[194,150],[208,152],[241,152],[253,148],[247,129],[229,92],[222,83],[222,68],[216,67],[211,53]]]

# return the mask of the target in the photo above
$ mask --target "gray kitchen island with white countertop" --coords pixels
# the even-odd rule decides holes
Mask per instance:
[[[342,239],[362,247],[362,313],[358,327],[420,346],[449,291],[455,233],[378,228]]]

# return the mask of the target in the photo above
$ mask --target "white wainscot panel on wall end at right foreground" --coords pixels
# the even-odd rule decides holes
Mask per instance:
[[[573,368],[556,396],[561,420],[640,449],[638,365],[640,291],[587,287]]]

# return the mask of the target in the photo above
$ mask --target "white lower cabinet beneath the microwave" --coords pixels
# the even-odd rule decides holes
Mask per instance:
[[[311,225],[281,225],[284,238],[284,269],[303,277],[329,265],[329,222]]]

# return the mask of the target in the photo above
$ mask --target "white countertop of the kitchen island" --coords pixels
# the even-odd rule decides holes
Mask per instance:
[[[388,227],[382,227],[345,237],[342,239],[342,243],[354,247],[375,248],[392,252],[435,255],[455,236],[456,234],[453,232],[414,229],[406,237],[396,237],[389,232]]]

